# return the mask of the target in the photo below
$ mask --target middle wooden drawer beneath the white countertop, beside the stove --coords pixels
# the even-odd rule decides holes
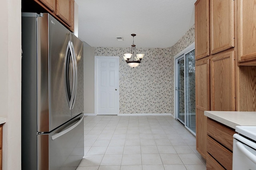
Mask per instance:
[[[232,170],[232,152],[207,136],[207,152],[212,155],[224,168]]]

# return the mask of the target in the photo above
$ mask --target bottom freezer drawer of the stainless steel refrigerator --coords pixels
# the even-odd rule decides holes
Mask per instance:
[[[81,117],[83,114],[50,134],[38,135],[38,170],[76,169],[84,156],[84,119],[81,121]],[[60,134],[63,131],[66,133]]]

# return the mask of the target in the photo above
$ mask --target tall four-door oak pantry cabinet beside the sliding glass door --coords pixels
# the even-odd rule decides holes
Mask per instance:
[[[195,3],[196,149],[204,158],[204,111],[235,110],[233,11],[233,0],[197,0]]]

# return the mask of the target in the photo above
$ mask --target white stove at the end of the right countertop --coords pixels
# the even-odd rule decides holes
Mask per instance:
[[[256,126],[236,126],[233,170],[256,170]]]

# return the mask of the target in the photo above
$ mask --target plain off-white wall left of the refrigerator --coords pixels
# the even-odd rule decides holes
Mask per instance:
[[[0,117],[3,170],[21,169],[21,0],[1,0]]]

